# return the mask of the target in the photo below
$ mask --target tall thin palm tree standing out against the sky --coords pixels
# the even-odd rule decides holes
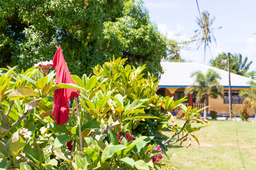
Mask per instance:
[[[204,61],[205,61],[205,48],[207,45],[206,41],[208,40],[208,42],[212,43],[212,40],[213,40],[217,45],[216,39],[213,35],[213,30],[220,29],[222,27],[221,26],[211,27],[215,20],[215,17],[210,18],[210,14],[208,11],[203,11],[202,16],[203,16],[202,18],[203,23],[200,17],[196,17],[196,23],[200,28],[195,31],[196,34],[193,35],[192,38],[199,37],[196,43],[197,49],[204,43]]]

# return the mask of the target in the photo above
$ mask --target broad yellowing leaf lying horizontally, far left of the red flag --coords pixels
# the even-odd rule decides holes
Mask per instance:
[[[29,88],[22,88],[22,89],[16,89],[9,93],[8,97],[10,100],[16,100],[19,98],[25,98],[27,96],[34,96],[37,97],[37,93]]]

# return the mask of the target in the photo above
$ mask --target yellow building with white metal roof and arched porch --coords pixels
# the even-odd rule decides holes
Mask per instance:
[[[196,70],[201,70],[204,74],[207,70],[213,69],[217,71],[221,77],[220,84],[223,85],[224,98],[220,96],[217,99],[212,99],[207,95],[208,108],[207,112],[210,110],[215,110],[221,117],[229,116],[229,99],[228,99],[228,71],[217,69],[215,67],[205,65],[202,63],[161,63],[164,74],[161,75],[161,79],[156,92],[162,96],[174,96],[174,100],[179,100],[184,97],[184,90],[187,86],[192,85],[195,81],[194,77],[190,77],[191,72]],[[241,105],[244,98],[239,97],[239,92],[242,89],[250,89],[247,84],[251,79],[244,76],[240,76],[234,73],[230,73],[231,90],[232,90],[232,108],[235,108],[236,114],[239,114]],[[197,107],[198,109],[204,107],[204,103],[196,103],[196,94],[189,94],[188,101],[183,103],[187,106]],[[172,112],[177,113],[180,108],[172,110]],[[247,109],[250,113],[250,117],[254,117],[254,109]],[[203,113],[203,111],[202,111]],[[210,115],[208,115],[210,116]]]

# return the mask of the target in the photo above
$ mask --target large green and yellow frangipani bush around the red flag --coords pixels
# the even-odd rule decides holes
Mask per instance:
[[[166,146],[189,138],[189,147],[190,137],[198,142],[192,133],[209,123],[192,119],[201,110],[182,105],[185,98],[156,95],[156,78],[141,74],[145,65],[124,66],[125,60],[97,65],[92,76],[72,75],[75,84],[54,85],[54,71],[44,77],[36,67],[5,69],[0,77],[0,169],[174,168],[164,163]],[[51,115],[58,88],[80,91],[82,150],[75,104],[66,124],[57,125]],[[179,126],[169,112],[175,107],[185,113]],[[204,126],[195,128],[194,122]],[[165,129],[173,132],[171,137],[161,133]],[[182,137],[173,141],[177,135]]]

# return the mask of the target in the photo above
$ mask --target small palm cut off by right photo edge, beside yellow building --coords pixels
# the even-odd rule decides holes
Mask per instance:
[[[254,122],[256,122],[256,83],[254,81],[249,81],[248,84],[250,85],[251,90],[243,89],[240,91],[239,96],[246,96],[243,103],[251,105],[251,107],[255,109]]]

